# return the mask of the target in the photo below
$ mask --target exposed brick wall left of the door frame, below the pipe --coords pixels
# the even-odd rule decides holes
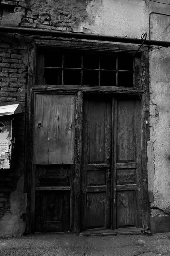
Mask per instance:
[[[14,46],[0,41],[0,102],[19,101],[25,106],[27,47]],[[10,210],[10,194],[24,172],[25,113],[17,117],[17,166],[0,169],[0,218]]]

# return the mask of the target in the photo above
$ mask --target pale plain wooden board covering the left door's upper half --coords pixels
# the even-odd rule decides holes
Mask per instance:
[[[74,99],[73,95],[36,94],[34,163],[73,163]]]

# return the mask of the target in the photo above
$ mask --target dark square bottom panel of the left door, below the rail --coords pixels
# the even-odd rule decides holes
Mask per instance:
[[[35,192],[35,231],[62,232],[70,228],[70,191]]]

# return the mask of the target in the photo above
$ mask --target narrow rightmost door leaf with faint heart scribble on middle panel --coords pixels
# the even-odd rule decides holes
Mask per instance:
[[[141,104],[118,99],[114,104],[113,228],[142,227]]]

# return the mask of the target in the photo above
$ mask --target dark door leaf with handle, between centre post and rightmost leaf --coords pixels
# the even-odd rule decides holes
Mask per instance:
[[[109,228],[112,102],[84,100],[81,229]]]

